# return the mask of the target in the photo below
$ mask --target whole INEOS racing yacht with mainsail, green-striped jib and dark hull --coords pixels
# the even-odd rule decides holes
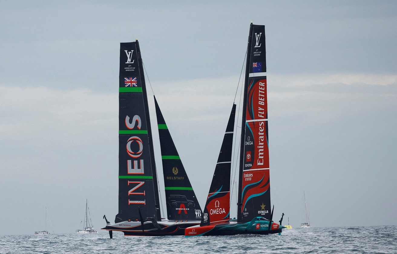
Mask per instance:
[[[120,44],[119,213],[106,227],[124,235],[183,235],[200,224],[201,209],[157,101],[169,220],[161,218],[143,63],[138,41]]]

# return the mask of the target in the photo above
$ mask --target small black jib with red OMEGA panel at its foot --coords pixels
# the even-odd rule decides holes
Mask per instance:
[[[230,219],[230,172],[235,115],[236,105],[233,104],[200,225]]]

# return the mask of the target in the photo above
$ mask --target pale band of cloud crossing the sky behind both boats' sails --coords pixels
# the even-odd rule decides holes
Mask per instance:
[[[166,122],[212,122],[227,119],[234,97],[240,100],[238,77],[152,84]],[[150,96],[151,111],[154,108]],[[330,117],[342,112],[393,105],[397,75],[334,74],[268,76],[270,115]],[[99,135],[117,125],[118,94],[89,89],[59,90],[44,86],[0,86],[0,139]],[[154,111],[152,112],[154,115]],[[155,119],[152,119],[155,122]],[[91,133],[91,134],[90,134]]]

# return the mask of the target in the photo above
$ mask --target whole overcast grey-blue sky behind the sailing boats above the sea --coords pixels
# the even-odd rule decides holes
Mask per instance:
[[[299,227],[305,191],[314,227],[397,225],[396,1],[0,0],[0,234],[44,230],[45,207],[47,230],[73,233],[86,199],[94,228],[114,222],[119,43],[135,38],[203,207],[251,21],[274,218]]]

